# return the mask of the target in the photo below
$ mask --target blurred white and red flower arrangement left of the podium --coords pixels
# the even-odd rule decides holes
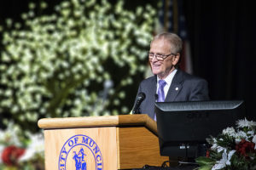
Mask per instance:
[[[43,133],[23,135],[14,123],[0,130],[0,169],[44,170]]]

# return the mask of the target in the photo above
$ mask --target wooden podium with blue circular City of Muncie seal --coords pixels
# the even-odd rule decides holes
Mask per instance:
[[[114,170],[160,166],[156,122],[147,115],[44,118],[45,169]]]

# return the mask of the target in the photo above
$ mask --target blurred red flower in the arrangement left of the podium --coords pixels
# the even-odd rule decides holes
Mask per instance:
[[[18,159],[25,152],[25,149],[18,148],[15,145],[10,145],[3,150],[2,160],[3,163],[9,166],[17,165]]]

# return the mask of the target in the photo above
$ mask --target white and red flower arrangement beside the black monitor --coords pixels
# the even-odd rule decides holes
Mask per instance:
[[[239,120],[227,127],[217,138],[207,139],[212,145],[206,157],[199,157],[198,170],[253,170],[256,169],[256,122]]]

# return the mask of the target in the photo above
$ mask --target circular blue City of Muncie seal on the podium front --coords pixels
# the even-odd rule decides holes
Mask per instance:
[[[103,170],[102,152],[96,142],[84,134],[67,139],[61,148],[59,170]]]

